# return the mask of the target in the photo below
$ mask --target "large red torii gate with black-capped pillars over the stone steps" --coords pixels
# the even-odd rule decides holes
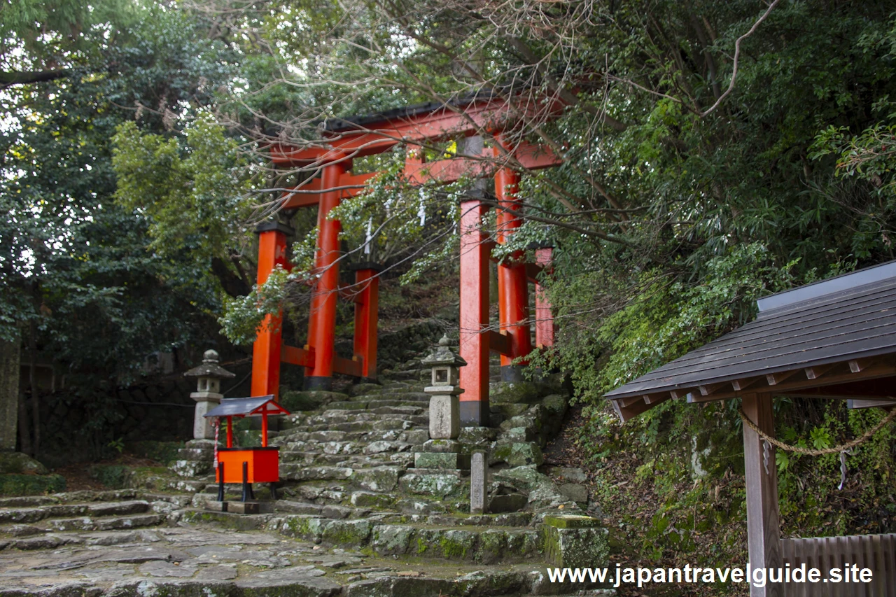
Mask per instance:
[[[563,106],[548,103],[549,114],[556,114]],[[497,213],[497,242],[504,243],[513,230],[521,225],[517,215],[521,202],[517,198],[520,175],[507,165],[513,157],[524,169],[541,169],[560,164],[558,156],[547,148],[519,143],[512,146],[502,134],[503,123],[512,117],[504,99],[470,99],[463,104],[426,104],[418,107],[358,119],[340,120],[330,126],[331,139],[326,145],[297,148],[285,143],[273,143],[271,161],[282,167],[318,168],[320,177],[312,178],[293,192],[284,194],[281,209],[298,207],[318,208],[318,238],[315,271],[319,273],[311,304],[308,324],[308,343],[304,348],[285,346],[280,337],[280,316],[268,316],[259,328],[254,342],[252,365],[252,395],[279,396],[280,363],[286,362],[306,368],[306,389],[329,390],[332,374],[374,379],[376,376],[377,328],[377,268],[373,264],[358,264],[355,293],[354,357],[343,359],[333,350],[336,322],[336,300],[339,294],[340,222],[328,220],[330,210],[344,198],[364,192],[366,181],[373,174],[351,174],[352,159],[389,151],[398,143],[408,145],[404,177],[411,184],[437,180],[454,182],[461,177],[495,177],[495,199],[501,210]],[[470,137],[487,130],[501,146],[478,148],[477,155],[437,160],[426,163],[421,145],[444,139]],[[298,193],[295,191],[299,191]],[[537,263],[524,264],[519,260],[498,264],[498,294],[500,333],[489,328],[488,321],[488,263],[494,241],[480,229],[482,217],[489,206],[471,194],[461,202],[461,357],[468,363],[461,369],[461,422],[464,425],[483,425],[488,420],[488,355],[490,350],[500,353],[502,376],[516,379],[513,359],[525,357],[532,350],[528,324],[528,282],[536,284],[536,344],[538,347],[554,343],[554,323],[550,305],[538,286],[536,276],[550,263],[551,248],[536,249]],[[277,266],[289,268],[286,239],[289,228],[277,222],[265,222],[259,234],[258,283],[267,280]]]

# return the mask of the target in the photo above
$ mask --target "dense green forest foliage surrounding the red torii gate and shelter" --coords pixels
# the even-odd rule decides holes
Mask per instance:
[[[250,342],[263,313],[307,299],[314,258],[314,215],[274,212],[318,169],[273,168],[267,143],[311,146],[323,121],[415,102],[503,101],[502,139],[479,131],[487,147],[540,143],[563,164],[524,173],[525,224],[496,255],[556,247],[544,282],[558,342],[532,359],[570,373],[599,482],[614,487],[626,469],[605,465],[633,454],[635,479],[655,484],[664,506],[651,516],[668,520],[644,546],[650,557],[697,545],[669,528],[721,521],[707,490],[728,499],[723,518],[742,519],[728,482],[740,422],[733,405],[664,404],[618,427],[600,395],[742,324],[764,294],[894,256],[890,3],[206,0],[142,8],[139,25],[128,11],[116,24],[71,4],[51,11],[45,35],[33,26],[41,4],[17,5],[4,70],[54,78],[3,99],[14,120],[0,194],[7,335],[33,322],[41,346],[72,362],[133,363],[184,342],[173,322],[189,304]],[[64,18],[94,34],[73,37]],[[14,64],[11,48],[29,64]],[[460,142],[413,151],[450,159]],[[335,216],[350,258],[380,259],[414,284],[456,263],[457,206],[472,181],[406,186],[406,149],[357,157],[356,172],[383,175]],[[297,229],[299,267],[252,288],[251,225],[271,215]],[[73,326],[98,321],[115,342],[74,350]],[[879,416],[839,403],[778,409],[782,437],[828,445]],[[787,528],[894,528],[890,433],[854,456],[849,498],[831,492],[838,462],[781,456]],[[694,454],[711,461],[698,482]]]

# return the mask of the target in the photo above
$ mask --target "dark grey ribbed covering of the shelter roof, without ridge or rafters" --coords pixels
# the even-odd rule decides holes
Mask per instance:
[[[881,280],[865,281],[867,270],[838,278],[834,289],[763,311],[754,322],[654,369],[612,392],[621,398],[727,382],[748,376],[896,351],[896,262],[874,268]],[[889,264],[887,264],[889,265]],[[829,289],[829,290],[830,290]]]

